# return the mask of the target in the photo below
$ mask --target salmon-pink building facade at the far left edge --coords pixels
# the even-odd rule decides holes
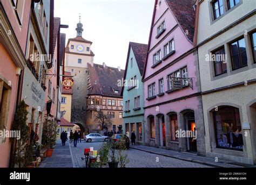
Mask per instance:
[[[0,131],[12,129],[26,65],[31,1],[0,1]],[[0,167],[9,167],[11,140],[0,137]]]

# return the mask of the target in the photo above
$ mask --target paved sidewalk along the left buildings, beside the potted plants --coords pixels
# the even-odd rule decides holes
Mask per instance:
[[[62,146],[61,140],[57,140],[52,156],[45,158],[39,168],[73,168],[69,141]]]

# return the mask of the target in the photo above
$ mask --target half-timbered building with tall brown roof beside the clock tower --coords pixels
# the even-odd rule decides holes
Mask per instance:
[[[102,133],[102,127],[95,122],[97,110],[102,110],[104,114],[112,120],[112,126],[108,130],[122,132],[123,125],[123,97],[121,88],[118,86],[118,80],[124,76],[124,70],[94,64],[88,65],[89,76],[87,78],[87,132],[99,131]],[[103,134],[103,133],[102,133]]]

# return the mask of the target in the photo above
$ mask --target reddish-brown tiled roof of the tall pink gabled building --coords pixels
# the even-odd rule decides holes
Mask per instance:
[[[196,21],[196,10],[194,10],[193,5],[196,3],[196,0],[166,0],[166,3],[181,29],[188,33],[186,34],[187,38],[193,43]]]

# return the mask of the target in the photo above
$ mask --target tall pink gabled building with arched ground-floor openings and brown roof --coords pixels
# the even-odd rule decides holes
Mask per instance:
[[[196,1],[156,0],[143,74],[145,144],[205,154]]]

